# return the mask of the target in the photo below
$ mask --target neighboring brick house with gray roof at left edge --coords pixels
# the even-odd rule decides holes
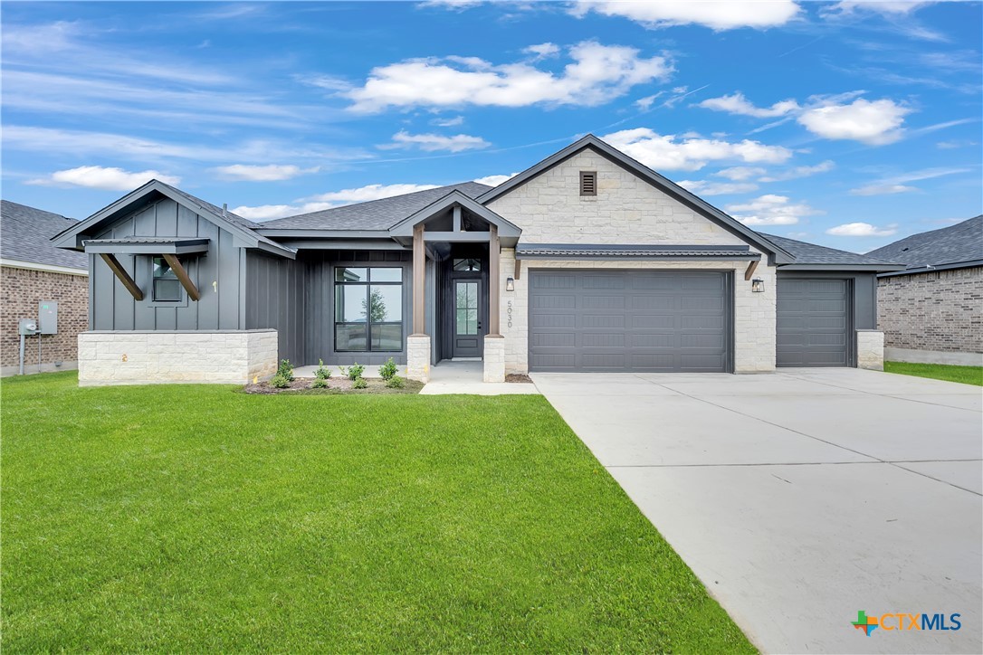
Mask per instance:
[[[58,302],[58,334],[25,339],[25,373],[78,367],[79,333],[88,324],[88,262],[50,239],[76,223],[48,211],[0,201],[0,374],[20,367],[21,318],[37,319],[42,300]]]

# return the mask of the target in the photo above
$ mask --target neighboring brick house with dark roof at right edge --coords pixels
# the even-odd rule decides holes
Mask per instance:
[[[983,216],[868,254],[905,264],[878,276],[885,357],[983,365]]]

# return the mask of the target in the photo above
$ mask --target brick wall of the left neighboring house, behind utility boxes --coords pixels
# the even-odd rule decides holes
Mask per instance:
[[[63,368],[76,367],[79,333],[88,324],[88,278],[4,266],[0,268],[0,369],[4,374],[17,372],[18,320],[36,319],[40,300],[58,301],[58,334],[42,337],[42,370],[57,370],[54,364],[59,361],[64,362]],[[37,372],[37,339],[26,338],[25,372]]]

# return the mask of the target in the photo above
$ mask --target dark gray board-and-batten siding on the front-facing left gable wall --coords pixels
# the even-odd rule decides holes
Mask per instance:
[[[89,254],[89,328],[92,330],[242,330],[246,326],[246,250],[232,233],[165,198],[149,203],[94,239],[181,237],[208,239],[208,251],[181,258],[202,299],[154,302],[151,255],[117,255],[144,292],[137,301],[97,254]],[[214,283],[214,284],[213,284]]]

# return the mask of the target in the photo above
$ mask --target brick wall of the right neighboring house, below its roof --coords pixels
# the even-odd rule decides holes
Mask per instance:
[[[877,319],[888,348],[983,353],[983,266],[881,278]]]

